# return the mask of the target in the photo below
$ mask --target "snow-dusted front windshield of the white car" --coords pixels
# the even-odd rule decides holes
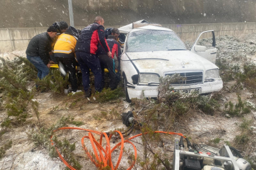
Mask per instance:
[[[142,30],[129,34],[127,52],[186,50],[182,40],[172,31]]]

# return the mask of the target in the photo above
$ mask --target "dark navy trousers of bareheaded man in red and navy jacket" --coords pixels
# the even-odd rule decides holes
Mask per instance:
[[[84,91],[90,88],[90,69],[94,74],[95,91],[102,91],[102,69],[100,67],[100,60],[95,54],[88,54],[86,52],[76,52],[76,59],[82,71],[82,79]]]

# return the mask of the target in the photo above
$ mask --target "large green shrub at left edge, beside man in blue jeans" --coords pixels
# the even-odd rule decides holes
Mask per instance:
[[[4,59],[1,59],[1,61],[3,63],[0,69],[0,86],[4,93],[4,108],[7,109],[8,118],[10,116],[15,117],[11,122],[20,125],[20,123],[25,122],[28,116],[26,113],[27,106],[30,103],[35,105],[35,102],[32,102],[35,91],[27,88],[28,80],[33,77],[32,74],[35,74],[35,68],[22,57],[18,57],[14,61]],[[34,107],[34,111],[36,110],[37,107]],[[38,111],[36,115],[38,118]],[[6,125],[3,124],[3,126]]]

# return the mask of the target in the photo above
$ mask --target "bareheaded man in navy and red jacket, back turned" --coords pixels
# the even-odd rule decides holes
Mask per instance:
[[[104,20],[101,16],[96,16],[94,23],[86,26],[81,31],[81,35],[76,43],[76,59],[80,65],[83,75],[83,86],[85,96],[91,95],[90,89],[90,69],[95,76],[95,91],[102,91],[102,69],[100,61],[96,57],[98,45],[102,45],[109,57],[112,56],[108,43],[105,39]]]

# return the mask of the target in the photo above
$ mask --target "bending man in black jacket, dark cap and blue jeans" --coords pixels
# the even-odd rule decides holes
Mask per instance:
[[[47,32],[36,35],[28,43],[26,48],[26,59],[28,59],[37,68],[38,79],[43,79],[49,74],[50,52],[52,39],[56,37],[57,30],[54,26],[49,26]]]

